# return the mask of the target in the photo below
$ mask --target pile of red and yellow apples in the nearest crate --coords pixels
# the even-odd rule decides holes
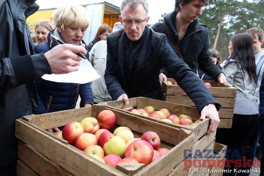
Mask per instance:
[[[134,138],[125,126],[111,130],[116,124],[116,116],[111,110],[103,110],[97,119],[86,117],[80,123],[66,124],[58,137],[82,150],[90,156],[116,168],[117,164],[138,164],[145,166],[168,152],[160,148],[160,138],[154,131],[145,132],[141,138]]]

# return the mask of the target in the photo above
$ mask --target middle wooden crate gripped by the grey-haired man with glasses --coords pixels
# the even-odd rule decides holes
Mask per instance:
[[[175,128],[184,128],[187,130],[192,131],[195,134],[194,137],[194,143],[198,141],[202,136],[204,136],[209,128],[210,120],[209,118],[206,118],[204,121],[198,123],[197,125],[177,125],[173,123],[167,123],[164,121],[161,121],[159,119],[151,118],[151,117],[145,117],[142,115],[134,114],[129,111],[123,110],[124,107],[134,107],[137,109],[143,109],[146,106],[153,106],[155,110],[160,110],[162,108],[166,108],[169,110],[171,114],[187,114],[191,116],[193,119],[199,119],[201,116],[198,113],[197,109],[194,107],[186,106],[186,105],[181,105],[181,104],[175,104],[175,103],[170,103],[170,102],[165,102],[161,100],[156,100],[156,99],[150,99],[150,98],[144,98],[144,97],[136,97],[136,98],[130,98],[129,99],[129,105],[126,105],[124,100],[116,100],[116,101],[109,101],[109,102],[104,102],[101,103],[104,105],[107,105],[109,108],[116,109],[118,111],[122,111],[127,114],[135,115],[138,117],[141,117],[143,119],[155,121],[164,125],[169,125]]]

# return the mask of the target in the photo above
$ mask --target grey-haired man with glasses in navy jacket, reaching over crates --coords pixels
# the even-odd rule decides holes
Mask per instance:
[[[124,29],[108,34],[107,38],[104,78],[112,99],[124,99],[127,105],[128,98],[133,97],[161,99],[159,73],[165,67],[196,104],[200,120],[211,119],[207,133],[214,132],[220,122],[217,113],[220,104],[196,73],[174,53],[166,36],[147,27],[146,0],[123,0],[120,9],[119,20]]]

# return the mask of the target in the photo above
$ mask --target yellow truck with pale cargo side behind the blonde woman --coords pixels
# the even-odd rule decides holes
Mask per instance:
[[[86,9],[90,19],[90,25],[88,29],[86,29],[86,33],[84,35],[84,41],[86,44],[94,39],[95,33],[101,24],[107,23],[111,28],[113,28],[114,24],[119,21],[118,16],[120,15],[120,8],[111,3],[105,1],[98,2],[98,0],[91,2],[89,0],[88,4],[81,6]],[[56,8],[57,7],[40,9],[27,18],[27,24],[32,33],[31,36],[35,36],[36,22],[38,20],[51,21],[52,13],[56,10]]]

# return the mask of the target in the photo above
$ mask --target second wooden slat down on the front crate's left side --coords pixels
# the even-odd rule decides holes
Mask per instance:
[[[18,157],[38,174],[70,176],[68,172],[51,162],[28,144],[18,141]]]

